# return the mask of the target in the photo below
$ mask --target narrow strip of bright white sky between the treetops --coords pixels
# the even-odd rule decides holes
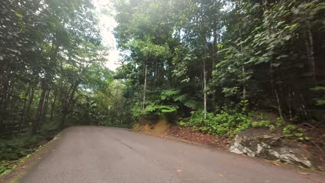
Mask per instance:
[[[112,0],[93,0],[94,6],[97,9],[99,21],[100,21],[100,29],[101,36],[103,37],[103,44],[105,46],[110,47],[108,51],[109,55],[107,57],[108,61],[106,62],[106,67],[108,69],[115,71],[115,69],[119,66],[117,61],[119,60],[119,51],[117,50],[116,40],[113,35],[113,29],[117,26],[117,22],[114,19],[113,7],[111,5]],[[103,9],[108,10],[109,13],[101,13]],[[110,15],[107,15],[110,14]]]

